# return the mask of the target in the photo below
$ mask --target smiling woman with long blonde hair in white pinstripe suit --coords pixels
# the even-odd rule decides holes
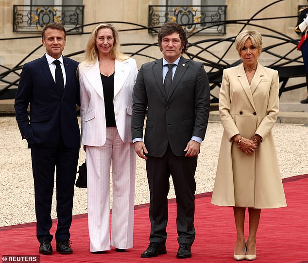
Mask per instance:
[[[118,32],[100,24],[79,66],[82,144],[86,150],[90,251],[133,247],[136,153],[131,136],[136,61],[120,53]],[[109,184],[112,163],[112,231]]]

